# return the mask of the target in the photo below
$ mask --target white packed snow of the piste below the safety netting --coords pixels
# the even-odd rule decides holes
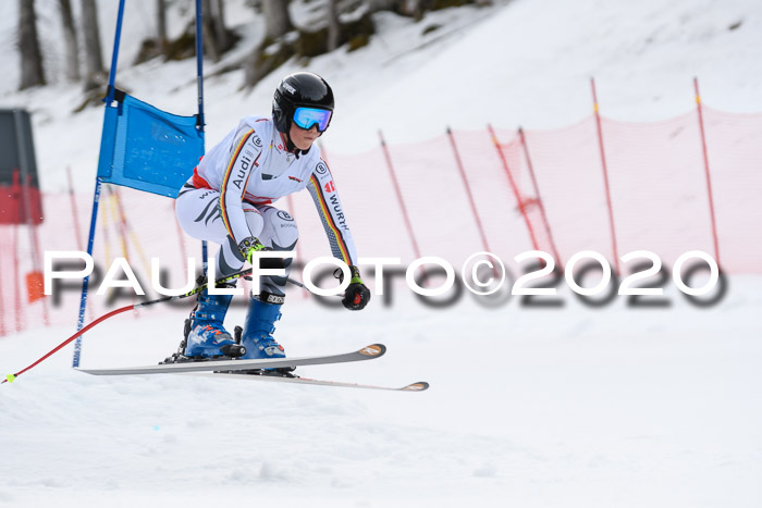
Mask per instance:
[[[380,393],[176,375],[95,377],[71,347],[0,387],[8,506],[757,507],[762,281],[722,305],[562,309],[514,297],[431,309],[397,294],[358,313],[294,300],[292,355],[382,342],[384,358],[304,375]],[[114,318],[83,367],[155,363],[183,314]],[[242,311],[232,322],[243,320]],[[0,340],[0,369],[71,333]]]

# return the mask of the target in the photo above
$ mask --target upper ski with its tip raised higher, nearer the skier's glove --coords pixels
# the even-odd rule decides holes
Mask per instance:
[[[319,365],[325,363],[344,363],[348,361],[374,360],[386,352],[383,344],[371,344],[353,352],[340,355],[322,355],[294,358],[270,358],[266,360],[208,360],[186,361],[177,363],[160,363],[158,365],[116,367],[112,369],[77,369],[93,375],[127,375],[127,374],[173,374],[180,372],[206,371],[246,371],[258,369],[287,369],[299,365]]]

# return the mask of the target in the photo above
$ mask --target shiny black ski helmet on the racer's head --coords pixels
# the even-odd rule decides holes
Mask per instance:
[[[325,79],[311,72],[297,72],[284,77],[272,99],[275,128],[288,136],[294,111],[299,107],[320,108],[333,113],[333,90]],[[328,125],[331,125],[330,120]]]

